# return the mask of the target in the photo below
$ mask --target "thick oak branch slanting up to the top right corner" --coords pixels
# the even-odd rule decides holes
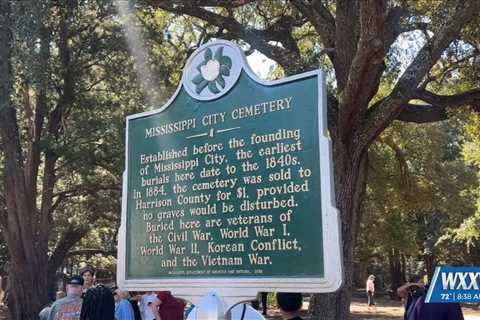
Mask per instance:
[[[428,40],[415,59],[400,77],[392,93],[381,103],[369,109],[367,121],[359,136],[362,148],[367,147],[413,98],[418,85],[440,58],[444,50],[455,40],[462,28],[480,11],[480,1],[464,1],[457,5],[455,13],[440,30]]]

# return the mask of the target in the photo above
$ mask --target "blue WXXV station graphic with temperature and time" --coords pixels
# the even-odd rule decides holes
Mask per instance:
[[[437,267],[425,302],[480,302],[480,267]]]

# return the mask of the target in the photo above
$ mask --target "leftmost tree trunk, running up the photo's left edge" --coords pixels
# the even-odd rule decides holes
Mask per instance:
[[[34,232],[35,199],[28,197],[20,132],[11,100],[13,24],[10,3],[0,0],[0,141],[8,172],[3,181],[6,212],[0,218],[0,225],[10,256],[10,319],[33,320],[47,302],[44,294],[47,264],[44,262],[48,257],[46,251],[38,250],[43,244],[36,241]]]

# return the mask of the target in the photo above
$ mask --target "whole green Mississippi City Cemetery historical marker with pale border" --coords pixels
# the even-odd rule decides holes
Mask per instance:
[[[199,48],[165,106],[127,117],[120,286],[336,290],[325,100],[320,71],[265,82],[233,43]]]

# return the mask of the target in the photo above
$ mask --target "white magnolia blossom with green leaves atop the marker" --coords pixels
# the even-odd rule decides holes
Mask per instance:
[[[215,51],[215,55],[213,55],[212,49],[207,48],[204,61],[197,66],[200,73],[192,79],[197,94],[200,94],[206,87],[213,94],[219,93],[217,85],[225,88],[224,77],[230,76],[231,68],[232,59],[223,55],[223,47],[219,47]]]

